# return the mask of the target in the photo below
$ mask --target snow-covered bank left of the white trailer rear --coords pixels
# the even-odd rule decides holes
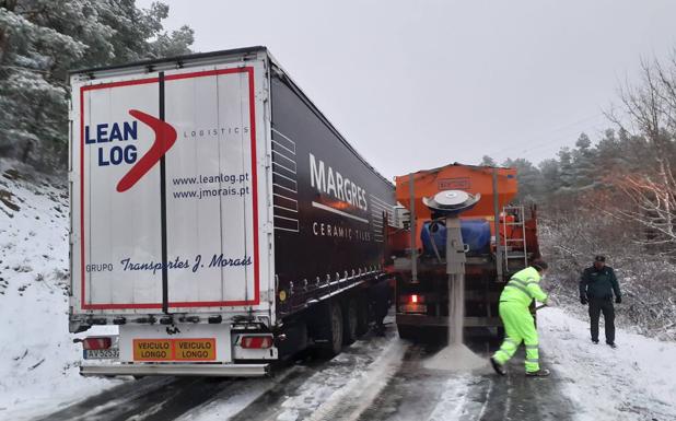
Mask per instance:
[[[0,161],[0,419],[16,420],[119,382],[78,373],[82,347],[68,332],[68,190],[12,167]]]

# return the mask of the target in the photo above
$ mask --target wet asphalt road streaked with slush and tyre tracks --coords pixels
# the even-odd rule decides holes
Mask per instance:
[[[483,346],[478,343],[478,346]],[[571,419],[561,378],[431,371],[439,346],[366,336],[330,361],[307,360],[273,378],[145,378],[45,420],[543,420]],[[137,385],[137,391],[133,386]]]

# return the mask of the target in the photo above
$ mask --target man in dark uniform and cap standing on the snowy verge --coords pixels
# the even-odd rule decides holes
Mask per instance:
[[[606,266],[604,256],[596,256],[594,265],[584,269],[580,277],[580,302],[590,305],[590,321],[592,324],[592,342],[598,343],[598,318],[603,312],[606,323],[606,343],[615,348],[615,302],[621,303],[619,284],[613,268]]]

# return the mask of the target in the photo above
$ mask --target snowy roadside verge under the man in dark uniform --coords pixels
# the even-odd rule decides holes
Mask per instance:
[[[560,308],[538,312],[545,364],[563,378],[578,419],[676,420],[676,343],[619,329],[611,349],[602,320],[601,343],[593,344],[585,316],[579,317]]]

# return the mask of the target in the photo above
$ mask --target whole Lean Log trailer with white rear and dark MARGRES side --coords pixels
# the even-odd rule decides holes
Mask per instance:
[[[265,47],[71,73],[84,375],[264,375],[366,329],[394,186]]]

